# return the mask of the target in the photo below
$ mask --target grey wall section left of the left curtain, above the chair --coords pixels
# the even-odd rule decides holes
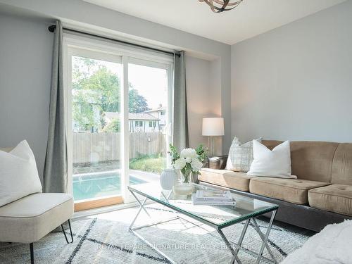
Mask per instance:
[[[47,23],[0,14],[0,146],[27,139],[42,178],[53,34]]]

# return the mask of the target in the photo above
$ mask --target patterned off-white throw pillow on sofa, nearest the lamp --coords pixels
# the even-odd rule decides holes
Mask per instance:
[[[256,139],[258,142],[262,138]],[[229,156],[227,158],[226,170],[233,170],[237,172],[248,172],[253,161],[253,140],[241,144],[237,137],[232,141]]]

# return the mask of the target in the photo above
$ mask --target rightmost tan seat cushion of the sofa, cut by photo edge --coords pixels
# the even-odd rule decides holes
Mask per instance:
[[[309,205],[342,215],[352,216],[352,186],[331,184],[308,191]]]

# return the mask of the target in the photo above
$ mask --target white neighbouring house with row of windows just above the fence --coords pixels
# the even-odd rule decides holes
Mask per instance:
[[[121,113],[106,112],[104,120],[108,125],[113,120],[120,120]],[[160,120],[150,113],[129,113],[128,130],[130,132],[161,132]]]

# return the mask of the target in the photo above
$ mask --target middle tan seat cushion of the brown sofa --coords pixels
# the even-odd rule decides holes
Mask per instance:
[[[257,177],[251,179],[249,191],[270,198],[296,204],[308,203],[308,190],[328,185],[328,182],[315,182],[301,179],[278,179]]]

